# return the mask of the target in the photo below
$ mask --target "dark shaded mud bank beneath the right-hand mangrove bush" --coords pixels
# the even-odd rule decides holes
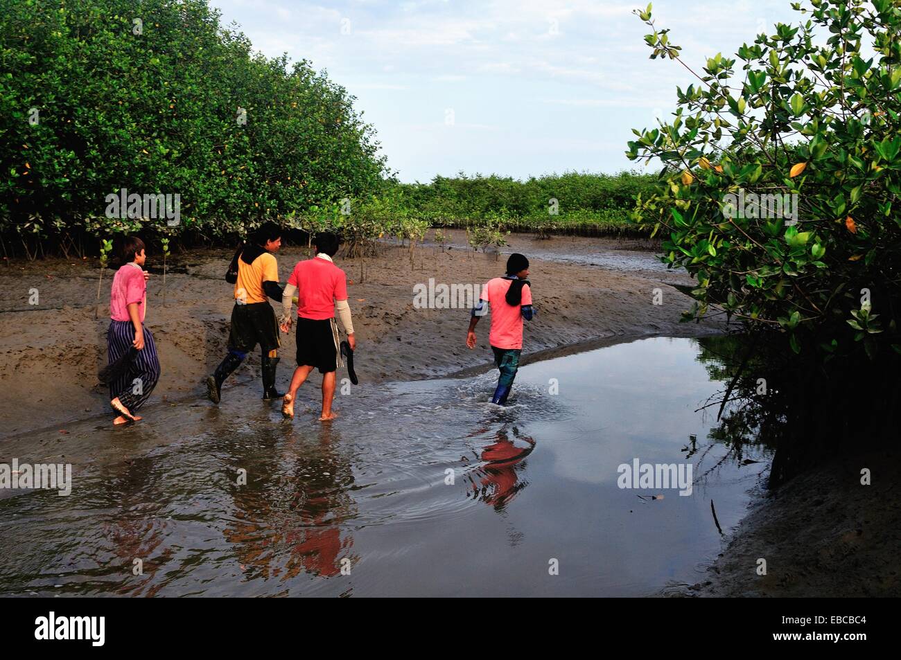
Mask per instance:
[[[871,484],[860,483],[868,468]],[[760,490],[723,554],[689,595],[901,595],[901,453],[849,455]],[[758,574],[759,560],[767,573]],[[682,594],[680,594],[682,595]],[[837,614],[838,612],[836,612]]]

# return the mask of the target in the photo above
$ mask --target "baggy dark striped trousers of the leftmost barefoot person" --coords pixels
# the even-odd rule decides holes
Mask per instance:
[[[127,353],[133,341],[132,321],[110,321],[110,328],[106,331],[109,364],[112,365]],[[119,401],[133,414],[150,398],[157,381],[159,381],[157,347],[153,343],[152,333],[144,326],[144,348],[138,351],[128,372],[110,384],[110,401],[119,397]]]

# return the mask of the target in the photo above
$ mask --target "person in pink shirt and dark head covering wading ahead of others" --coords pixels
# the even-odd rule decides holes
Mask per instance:
[[[500,370],[497,387],[491,402],[504,405],[513,387],[519,358],[523,353],[523,319],[532,321],[532,286],[529,276],[529,260],[519,253],[507,259],[506,275],[495,277],[482,287],[482,295],[469,319],[466,345],[476,348],[476,324],[491,307],[491,332],[488,343],[495,354],[495,364]]]

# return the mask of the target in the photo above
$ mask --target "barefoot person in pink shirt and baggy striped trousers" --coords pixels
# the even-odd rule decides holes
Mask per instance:
[[[150,330],[144,327],[147,313],[147,255],[144,242],[125,238],[122,247],[124,265],[116,271],[110,294],[110,327],[106,331],[106,352],[110,365],[136,349],[131,364],[110,383],[110,405],[119,416],[114,424],[137,421],[134,413],[150,398],[159,381],[159,357]]]

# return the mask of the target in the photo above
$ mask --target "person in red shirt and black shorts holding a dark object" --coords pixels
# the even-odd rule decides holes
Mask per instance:
[[[338,237],[331,232],[316,234],[316,256],[298,261],[285,285],[282,304],[285,313],[280,327],[283,332],[291,327],[291,303],[297,292],[297,368],[291,378],[291,387],[285,394],[282,413],[294,417],[297,390],[314,369],[323,375],[323,411],[320,421],[333,420],[332,399],[335,393],[335,371],[342,366],[341,347],[335,312],[347,332],[350,350],[357,348],[347,303],[347,276],[332,263],[338,251]]]

